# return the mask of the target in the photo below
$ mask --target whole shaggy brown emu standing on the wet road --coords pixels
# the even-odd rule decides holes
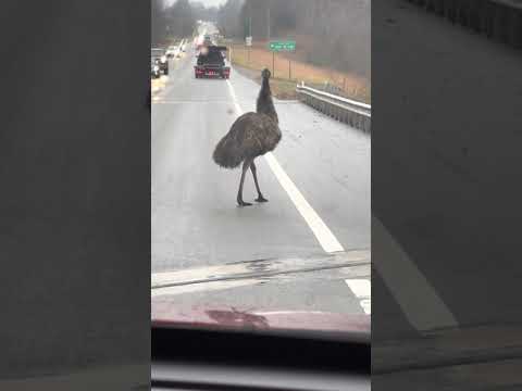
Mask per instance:
[[[243,201],[243,185],[245,182],[245,174],[249,168],[252,172],[258,191],[256,201],[268,201],[261,194],[253,160],[269,151],[273,151],[282,137],[277,113],[275,112],[270,90],[270,71],[263,70],[261,76],[262,85],[257,101],[257,112],[249,112],[239,116],[232,125],[231,130],[217,143],[212,155],[214,162],[225,168],[236,168],[243,162],[241,179],[237,192],[239,206],[251,205]]]

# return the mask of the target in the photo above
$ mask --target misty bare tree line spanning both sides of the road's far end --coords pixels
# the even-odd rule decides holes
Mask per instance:
[[[227,0],[220,8],[152,1],[152,42],[190,36],[197,20],[216,22],[228,38],[296,38],[307,61],[370,78],[370,0]]]

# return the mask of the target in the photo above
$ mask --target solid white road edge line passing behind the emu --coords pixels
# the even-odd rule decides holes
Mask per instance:
[[[234,91],[234,87],[228,79],[226,80],[226,83],[228,85],[232,99],[236,106],[237,114],[241,115],[244,111],[237,101],[237,96]],[[283,167],[275,159],[274,154],[272,152],[268,152],[266,154],[264,154],[264,159],[266,160],[269,167],[272,169],[272,173],[274,173],[279,185],[286,191],[298,212],[307,222],[308,226],[314,234],[323,250],[327,253],[345,251],[345,249],[339,243],[334,234],[330,230],[326,224],[324,224],[324,222],[313,210],[313,207],[308,203],[308,201],[304,199],[297,186],[291,181],[290,177],[285,173]]]

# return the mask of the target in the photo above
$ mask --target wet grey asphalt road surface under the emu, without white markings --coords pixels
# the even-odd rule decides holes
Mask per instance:
[[[257,160],[258,175],[270,202],[236,206],[240,171],[220,168],[211,155],[238,115],[234,99],[244,112],[252,111],[260,87],[234,70],[229,86],[223,79],[196,79],[194,61],[191,48],[185,58],[172,60],[170,76],[156,83],[160,89],[153,93],[152,274],[262,258],[324,256],[264,157]],[[369,250],[370,137],[299,102],[277,101],[276,110],[283,131],[276,160],[345,251]],[[254,197],[249,174],[244,199]],[[302,263],[304,267],[306,260]],[[347,275],[346,268],[339,268],[328,272],[324,280],[308,274],[303,279],[212,289],[208,294],[190,289],[176,294],[187,305],[362,313],[345,281]],[[358,278],[369,277],[368,265]],[[277,300],[283,295],[284,301]]]

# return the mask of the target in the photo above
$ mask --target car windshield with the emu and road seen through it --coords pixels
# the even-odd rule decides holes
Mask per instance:
[[[370,1],[152,7],[153,319],[369,332]]]

